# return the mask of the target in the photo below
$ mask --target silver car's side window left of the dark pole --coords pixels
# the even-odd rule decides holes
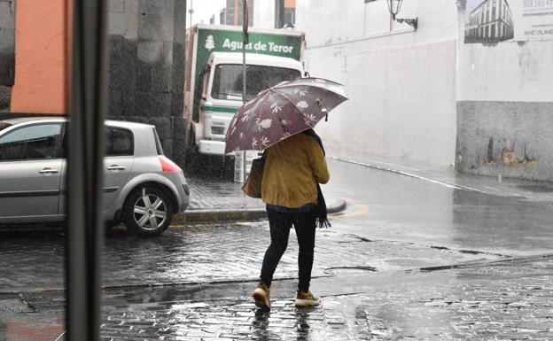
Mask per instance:
[[[56,159],[59,157],[61,124],[36,124],[0,137],[0,161]]]

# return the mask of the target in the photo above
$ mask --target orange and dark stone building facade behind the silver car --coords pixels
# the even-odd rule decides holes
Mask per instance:
[[[4,12],[8,3],[11,7],[7,10],[15,17],[15,65],[7,100],[10,105],[4,111],[65,114],[71,2],[49,0],[37,5],[34,0],[0,1],[0,27],[6,22],[10,25],[6,13],[11,12]],[[181,162],[184,151],[179,148],[183,145],[186,124],[183,121],[185,15],[186,0],[108,1],[107,116],[154,124],[167,155]],[[4,51],[4,37],[2,44],[0,53]],[[7,80],[9,84],[9,77]],[[4,83],[5,80],[0,84]],[[2,93],[0,89],[0,98]]]

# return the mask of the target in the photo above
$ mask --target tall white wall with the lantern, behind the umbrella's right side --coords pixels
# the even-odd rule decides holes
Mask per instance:
[[[350,98],[318,125],[327,144],[401,162],[454,164],[456,1],[406,1],[398,17],[418,17],[417,32],[391,22],[386,0],[302,0],[296,13],[308,71],[343,82]]]

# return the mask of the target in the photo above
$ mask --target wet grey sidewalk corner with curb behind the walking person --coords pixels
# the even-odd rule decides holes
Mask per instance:
[[[218,179],[187,178],[191,189],[191,203],[185,213],[173,218],[174,225],[187,222],[253,221],[267,217],[261,199],[247,197],[243,183]],[[329,213],[346,208],[342,198],[326,198]]]

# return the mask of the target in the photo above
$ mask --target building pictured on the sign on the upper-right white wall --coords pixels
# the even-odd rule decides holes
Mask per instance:
[[[485,0],[471,11],[464,30],[465,43],[495,43],[514,36],[507,0]]]

